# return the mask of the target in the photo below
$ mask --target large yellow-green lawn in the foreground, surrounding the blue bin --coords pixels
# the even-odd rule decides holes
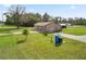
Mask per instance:
[[[41,34],[29,34],[25,42],[17,43],[25,37],[10,35],[0,37],[0,59],[84,59],[86,43],[64,38],[59,47],[50,41],[50,37]]]

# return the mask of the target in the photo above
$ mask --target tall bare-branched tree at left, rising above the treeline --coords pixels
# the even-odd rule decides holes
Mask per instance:
[[[9,16],[14,21],[17,28],[20,27],[20,18],[25,13],[25,8],[21,5],[12,5],[9,9]]]

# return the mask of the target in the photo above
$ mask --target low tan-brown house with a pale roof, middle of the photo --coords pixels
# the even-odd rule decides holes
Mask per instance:
[[[61,30],[61,26],[53,22],[40,22],[35,24],[35,29],[40,33],[56,33]]]

